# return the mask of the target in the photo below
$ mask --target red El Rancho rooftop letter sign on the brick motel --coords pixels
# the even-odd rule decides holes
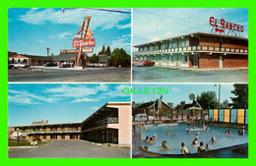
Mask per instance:
[[[215,17],[211,17],[209,23],[213,28],[215,28],[216,32],[224,32],[224,29],[229,29],[237,32],[244,31],[243,26],[226,22],[224,19],[218,20]]]

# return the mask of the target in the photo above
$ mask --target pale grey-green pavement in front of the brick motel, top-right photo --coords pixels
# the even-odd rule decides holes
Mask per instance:
[[[134,83],[248,83],[248,70],[179,70],[133,66]]]

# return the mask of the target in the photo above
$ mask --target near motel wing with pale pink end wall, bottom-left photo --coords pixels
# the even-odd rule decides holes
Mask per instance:
[[[130,117],[130,102],[107,102],[83,122],[81,138],[94,142],[130,145]]]

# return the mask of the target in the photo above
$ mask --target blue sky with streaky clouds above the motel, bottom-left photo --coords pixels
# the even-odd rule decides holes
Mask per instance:
[[[130,102],[124,83],[9,83],[8,125],[79,123],[106,102]]]

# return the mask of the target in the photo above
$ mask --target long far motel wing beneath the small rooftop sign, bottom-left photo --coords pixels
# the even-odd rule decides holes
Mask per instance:
[[[30,140],[31,138],[40,138],[41,140],[54,139],[79,139],[81,135],[82,123],[67,124],[42,124],[32,126],[16,126],[13,127],[13,133],[21,133],[21,138]]]

